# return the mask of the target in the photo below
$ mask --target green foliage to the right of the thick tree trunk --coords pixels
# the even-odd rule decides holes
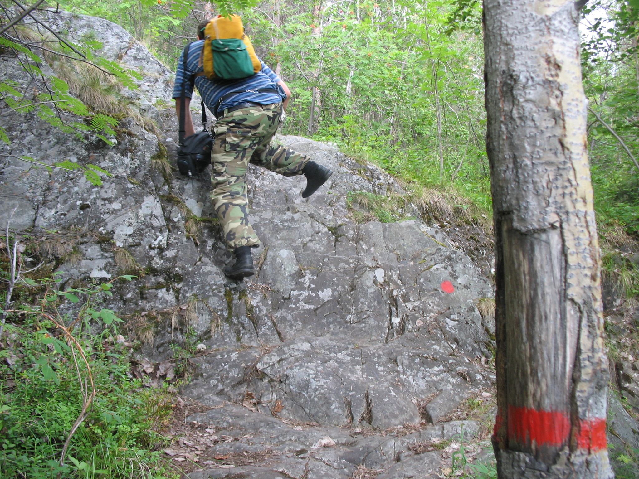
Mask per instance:
[[[597,1],[584,10],[582,69],[590,105],[639,155],[639,59],[636,48],[636,3]],[[588,141],[597,222],[604,230],[620,225],[639,234],[639,172],[605,126],[589,117]]]

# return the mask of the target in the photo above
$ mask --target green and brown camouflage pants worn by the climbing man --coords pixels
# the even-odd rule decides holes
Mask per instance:
[[[271,141],[282,113],[282,103],[247,107],[220,117],[213,130],[211,153],[213,209],[230,250],[259,246],[249,222],[246,171],[249,162],[284,176],[302,174],[309,156]]]

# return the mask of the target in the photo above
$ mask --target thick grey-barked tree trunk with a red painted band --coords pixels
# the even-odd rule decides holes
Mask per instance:
[[[613,477],[578,20],[484,0],[500,478]]]

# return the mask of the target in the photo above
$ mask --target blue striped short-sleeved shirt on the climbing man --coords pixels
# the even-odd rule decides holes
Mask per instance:
[[[191,43],[189,47],[189,56],[187,57],[187,75],[191,75],[198,72],[204,72],[203,66],[198,66],[199,57],[204,47],[204,40],[197,40],[197,42]],[[173,98],[180,98],[182,95],[182,83],[185,82],[184,68],[183,68],[183,56],[184,50],[182,50],[182,54],[180,55],[180,61],[178,62],[178,71],[175,74],[175,84],[173,86]],[[261,61],[261,60],[260,60]],[[261,105],[270,105],[271,103],[279,103],[284,98],[286,98],[286,94],[283,89],[277,84],[277,82],[281,82],[282,79],[278,77],[273,70],[268,68],[263,61],[261,72],[255,73],[250,77],[245,79],[236,80],[235,82],[228,82],[227,80],[222,80],[222,82],[216,82],[215,80],[209,80],[208,78],[201,76],[196,77],[195,85],[197,86],[197,91],[199,91],[202,100],[204,100],[204,104],[208,107],[209,110],[215,114],[215,111],[218,109],[217,102],[219,101],[221,96],[226,95],[231,91],[236,90],[248,90],[248,89],[258,89],[258,88],[275,88],[282,91],[281,95],[277,95],[277,93],[252,93],[250,91],[245,91],[243,93],[238,93],[237,95],[231,96],[231,98],[227,98],[227,100],[220,105],[221,110],[235,107],[236,105],[240,105],[242,103],[255,102],[260,103]],[[186,82],[184,93],[189,98],[192,98],[193,95],[193,87],[190,82]]]

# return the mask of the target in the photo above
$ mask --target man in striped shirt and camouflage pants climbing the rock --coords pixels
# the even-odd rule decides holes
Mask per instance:
[[[231,61],[223,63],[222,61],[226,60],[222,56],[216,56],[216,48],[221,52],[220,55],[227,53],[226,50],[229,49],[224,50],[223,42],[226,41],[229,45],[235,39],[229,38],[233,36],[232,34],[224,33],[233,28],[241,28],[240,34],[236,36],[239,37],[240,42],[247,43],[250,47],[247,49],[242,47],[242,43],[236,42],[233,48],[240,54],[243,49],[247,49],[255,70],[250,71],[249,63],[249,76],[239,79],[222,79],[226,74],[221,70],[222,66],[230,65],[227,70],[230,70],[231,74],[226,77],[233,78],[235,65],[232,57]],[[255,55],[250,41],[243,36],[240,17],[233,15],[231,19],[227,19],[220,16],[210,22],[201,22],[197,26],[197,38],[198,40],[190,43],[188,47],[186,72],[183,61],[184,52],[180,57],[173,98],[176,100],[178,117],[181,101],[185,102],[185,111],[189,112],[193,84],[195,84],[204,104],[217,117],[212,132],[214,137],[211,152],[213,189],[210,197],[220,219],[224,240],[229,250],[235,253],[236,258],[235,264],[224,268],[224,274],[231,279],[241,280],[253,275],[250,249],[259,247],[259,238],[251,227],[247,215],[246,172],[249,162],[283,176],[304,174],[307,185],[302,192],[303,198],[316,192],[333,172],[315,163],[307,155],[296,153],[272,142],[279,123],[285,118],[284,110],[291,97],[291,91],[282,79]],[[204,48],[205,43],[207,49]],[[213,50],[212,57],[207,50]],[[210,61],[210,66],[207,61]],[[190,81],[193,78],[194,81]],[[180,98],[183,87],[184,98]],[[188,141],[189,135],[195,133],[190,114],[185,115],[184,130]]]

